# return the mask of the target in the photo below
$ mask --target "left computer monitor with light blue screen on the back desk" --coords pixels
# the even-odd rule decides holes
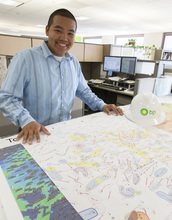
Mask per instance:
[[[113,73],[119,73],[121,69],[121,57],[104,56],[103,70],[107,76],[113,76]]]

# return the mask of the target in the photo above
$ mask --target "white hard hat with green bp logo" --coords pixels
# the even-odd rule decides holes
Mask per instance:
[[[166,119],[159,99],[150,92],[136,95],[124,114],[131,121],[142,125],[158,125]]]

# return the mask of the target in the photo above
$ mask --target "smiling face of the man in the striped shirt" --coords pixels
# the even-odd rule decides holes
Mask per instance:
[[[55,55],[62,57],[74,44],[76,23],[70,18],[56,15],[50,27],[46,27],[48,47]]]

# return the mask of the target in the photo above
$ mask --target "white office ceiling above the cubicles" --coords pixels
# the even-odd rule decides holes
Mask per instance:
[[[4,1],[4,0],[3,0]],[[5,0],[9,3],[11,0]],[[77,36],[172,32],[172,0],[0,0],[0,34],[45,36],[49,15],[70,10],[78,21]],[[85,17],[85,20],[80,20]]]

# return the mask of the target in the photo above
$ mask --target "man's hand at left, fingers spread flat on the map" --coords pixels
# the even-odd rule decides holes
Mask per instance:
[[[44,132],[50,135],[50,132],[41,124],[33,121],[27,124],[22,131],[18,134],[16,141],[23,137],[23,144],[32,144],[34,137],[36,137],[37,142],[40,142],[40,132]]]

